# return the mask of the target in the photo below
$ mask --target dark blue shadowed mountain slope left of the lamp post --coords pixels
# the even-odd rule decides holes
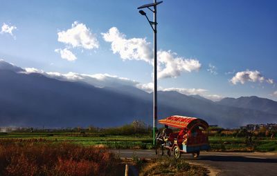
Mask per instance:
[[[1,126],[116,126],[150,112],[139,99],[39,74],[0,70],[0,82]]]

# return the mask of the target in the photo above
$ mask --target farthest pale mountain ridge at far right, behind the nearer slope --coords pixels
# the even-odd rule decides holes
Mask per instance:
[[[260,110],[265,113],[271,113],[277,115],[277,102],[271,99],[260,98],[256,96],[252,97],[240,97],[224,98],[217,102],[218,104],[225,106],[233,106],[237,108],[248,108],[253,110]]]

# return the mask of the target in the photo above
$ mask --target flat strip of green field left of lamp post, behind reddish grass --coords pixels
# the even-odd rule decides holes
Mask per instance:
[[[54,141],[70,142],[72,144],[81,144],[83,146],[104,145],[107,148],[152,148],[152,139],[150,137],[134,136],[100,136],[93,133],[86,136],[80,133],[8,133],[1,135],[1,139],[37,140],[37,141]]]

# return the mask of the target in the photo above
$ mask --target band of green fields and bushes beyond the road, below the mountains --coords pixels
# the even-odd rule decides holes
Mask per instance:
[[[161,129],[160,129],[161,130]],[[175,129],[178,130],[178,129]],[[113,149],[151,149],[152,127],[142,121],[116,128],[63,128],[55,130],[21,128],[0,133],[1,139],[44,143],[68,142],[82,146],[102,146]],[[277,151],[276,130],[247,130],[210,128],[209,142],[214,151]]]

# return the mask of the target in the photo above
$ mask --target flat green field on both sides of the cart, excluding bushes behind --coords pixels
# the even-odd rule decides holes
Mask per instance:
[[[107,148],[152,148],[150,136],[103,135],[99,133],[0,133],[1,139],[16,142],[69,142],[83,146],[102,145]],[[218,151],[277,151],[277,139],[260,137],[247,144],[245,137],[209,137],[211,150]]]

